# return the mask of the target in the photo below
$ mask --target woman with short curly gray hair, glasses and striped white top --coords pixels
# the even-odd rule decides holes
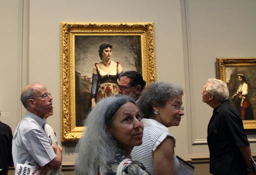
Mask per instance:
[[[178,126],[184,115],[183,89],[172,83],[151,83],[139,99],[143,113],[143,143],[135,146],[131,156],[139,160],[150,174],[176,174],[179,161],[174,154],[176,138],[168,127]],[[168,173],[167,173],[168,172]]]

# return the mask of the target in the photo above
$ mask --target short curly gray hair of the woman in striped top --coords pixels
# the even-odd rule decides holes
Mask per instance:
[[[144,118],[149,118],[153,114],[152,102],[155,101],[163,107],[169,98],[183,95],[183,89],[179,85],[167,82],[151,83],[142,91],[138,106]]]

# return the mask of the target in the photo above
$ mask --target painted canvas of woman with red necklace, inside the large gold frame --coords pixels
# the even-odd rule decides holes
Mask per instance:
[[[95,104],[118,93],[126,71],[142,74],[140,36],[75,36],[75,116],[82,127]]]

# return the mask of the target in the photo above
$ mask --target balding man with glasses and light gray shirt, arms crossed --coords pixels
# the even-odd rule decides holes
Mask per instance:
[[[52,96],[46,87],[34,83],[23,88],[21,102],[27,114],[15,129],[12,141],[14,167],[29,161],[37,166],[40,175],[46,175],[52,168],[59,169],[62,163],[61,147],[52,143],[45,131],[44,116],[52,110]]]

